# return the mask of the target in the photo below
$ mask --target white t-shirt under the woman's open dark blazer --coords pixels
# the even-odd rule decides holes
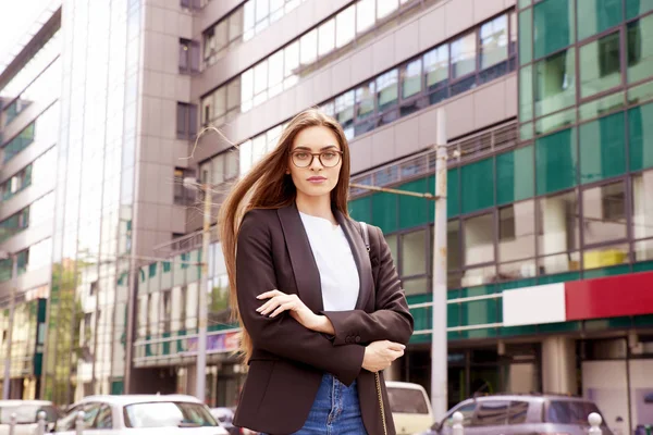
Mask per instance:
[[[322,286],[325,311],[356,308],[360,282],[349,241],[340,225],[299,212],[312,250]]]

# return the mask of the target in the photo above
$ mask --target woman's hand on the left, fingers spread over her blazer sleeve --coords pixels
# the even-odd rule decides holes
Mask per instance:
[[[257,299],[269,299],[256,309],[262,315],[270,314],[270,318],[275,318],[282,312],[288,311],[291,316],[307,330],[324,334],[335,334],[331,321],[325,315],[313,313],[297,295],[286,295],[274,289],[257,296]]]

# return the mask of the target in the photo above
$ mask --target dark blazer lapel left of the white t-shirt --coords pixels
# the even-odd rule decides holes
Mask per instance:
[[[297,293],[313,312],[324,310],[320,271],[295,203],[276,210],[293,265]],[[283,288],[280,288],[283,291]]]

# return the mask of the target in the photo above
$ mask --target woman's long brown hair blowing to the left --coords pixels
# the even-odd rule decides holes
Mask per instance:
[[[251,356],[252,343],[243,325],[236,298],[236,240],[241,222],[245,213],[251,209],[279,209],[295,201],[297,190],[292,177],[286,174],[289,153],[297,134],[304,128],[313,126],[326,127],[333,132],[341,151],[343,151],[340,177],[335,188],[331,191],[331,203],[332,207],[348,216],[350,156],[347,138],[337,121],[317,109],[306,110],[288,123],[278,146],[236,183],[220,208],[220,240],[229,275],[232,315],[241,324],[239,350],[246,360]]]

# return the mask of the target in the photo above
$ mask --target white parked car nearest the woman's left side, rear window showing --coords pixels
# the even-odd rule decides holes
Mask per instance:
[[[84,411],[84,435],[229,435],[193,396],[88,396],[69,408],[54,432],[74,435],[79,411]]]

